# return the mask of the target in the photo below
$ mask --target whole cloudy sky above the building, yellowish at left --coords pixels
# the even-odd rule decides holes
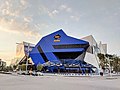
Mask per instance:
[[[36,44],[59,29],[79,39],[93,35],[120,56],[120,0],[0,0],[0,58],[7,63],[16,43]]]

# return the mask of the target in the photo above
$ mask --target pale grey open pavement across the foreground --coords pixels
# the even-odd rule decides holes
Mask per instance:
[[[0,90],[120,90],[120,77],[116,78],[0,74]]]

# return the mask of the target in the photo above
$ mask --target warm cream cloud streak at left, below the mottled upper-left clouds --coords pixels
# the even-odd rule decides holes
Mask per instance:
[[[15,19],[0,18],[0,30],[9,33],[23,33],[27,36],[37,35],[31,26],[26,22],[19,22]]]

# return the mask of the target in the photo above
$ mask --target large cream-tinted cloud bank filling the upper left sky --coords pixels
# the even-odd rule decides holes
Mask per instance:
[[[39,32],[31,24],[32,16],[23,13],[28,7],[27,0],[6,0],[0,5],[0,31],[39,36]]]

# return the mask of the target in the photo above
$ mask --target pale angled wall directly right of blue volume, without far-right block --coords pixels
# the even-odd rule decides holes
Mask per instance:
[[[82,40],[88,41],[90,44],[90,46],[87,49],[84,61],[89,64],[92,64],[93,66],[99,69],[100,61],[99,61],[97,54],[100,52],[100,49],[99,49],[99,46],[96,40],[94,39],[92,35],[86,36],[82,38]]]

